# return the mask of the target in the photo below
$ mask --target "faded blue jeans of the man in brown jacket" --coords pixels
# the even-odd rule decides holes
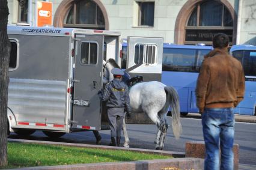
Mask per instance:
[[[234,169],[234,109],[205,109],[202,125],[206,144],[204,169],[219,169],[219,146],[221,147],[221,169]]]

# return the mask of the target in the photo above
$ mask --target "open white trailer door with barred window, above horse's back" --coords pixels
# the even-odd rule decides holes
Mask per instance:
[[[163,38],[128,37],[127,70],[130,76],[141,75],[144,81],[161,81]]]

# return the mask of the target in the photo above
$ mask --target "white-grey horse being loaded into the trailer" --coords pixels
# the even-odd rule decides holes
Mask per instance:
[[[114,76],[111,73],[112,68],[120,68],[114,59],[103,61],[103,83],[110,82]],[[178,94],[174,88],[168,87],[161,82],[139,82],[130,87],[129,90],[130,106],[132,114],[142,113],[148,117],[157,126],[157,135],[154,143],[156,150],[162,150],[164,140],[168,129],[166,122],[166,114],[171,106],[172,112],[172,130],[176,139],[180,137],[182,132],[180,123],[180,103]],[[126,123],[123,123],[124,147],[129,147],[129,137],[126,130]]]

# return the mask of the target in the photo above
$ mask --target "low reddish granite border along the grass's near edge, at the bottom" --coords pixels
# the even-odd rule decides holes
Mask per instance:
[[[174,158],[174,159],[155,159],[155,160],[138,160],[132,162],[108,162],[108,163],[86,163],[77,165],[61,165],[61,166],[37,166],[22,169],[47,169],[47,170],[57,170],[57,169],[76,169],[76,170],[196,170],[203,168],[204,159],[199,158]]]

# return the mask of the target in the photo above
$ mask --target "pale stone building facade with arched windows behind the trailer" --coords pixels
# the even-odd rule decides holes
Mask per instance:
[[[55,27],[109,29],[164,43],[211,44],[223,32],[230,44],[256,45],[256,0],[49,0]],[[35,25],[38,1],[8,0],[9,24]]]

